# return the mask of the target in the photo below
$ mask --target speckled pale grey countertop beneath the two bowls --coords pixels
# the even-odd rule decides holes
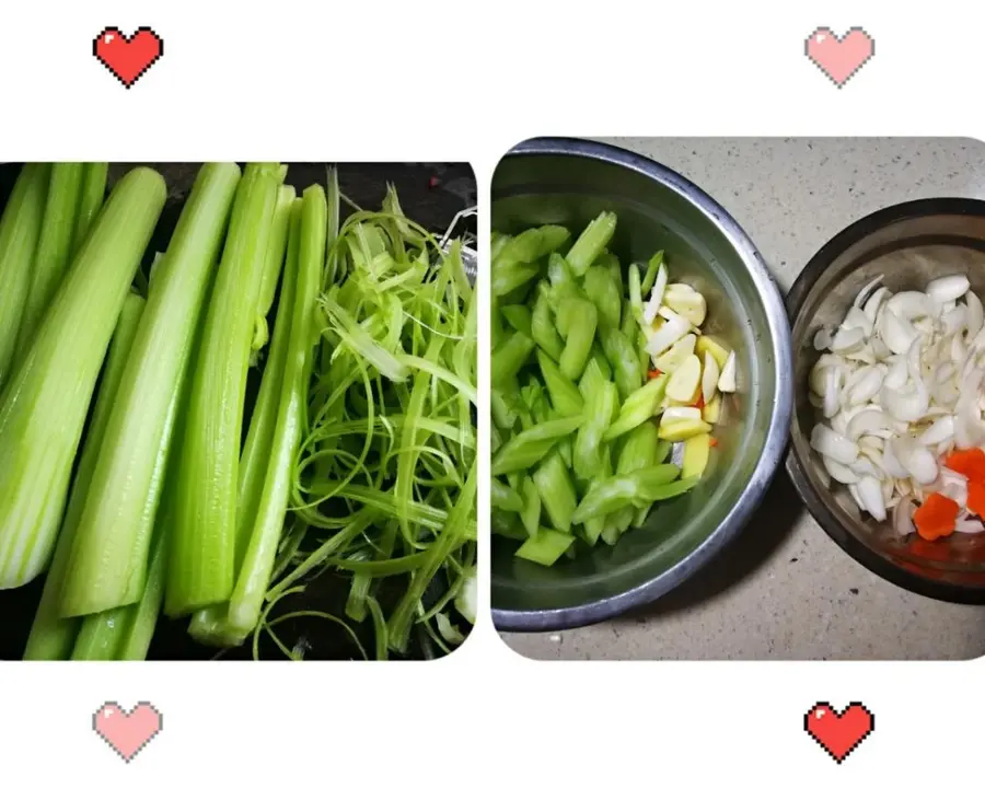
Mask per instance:
[[[985,198],[985,144],[966,139],[609,139],[708,192],[786,291],[813,254],[871,211],[925,197]],[[971,659],[985,607],[897,589],[806,513],[781,470],[725,554],[619,619],[505,635],[536,659]]]

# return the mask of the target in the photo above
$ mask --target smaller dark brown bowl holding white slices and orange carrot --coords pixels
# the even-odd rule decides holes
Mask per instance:
[[[859,289],[880,274],[892,291],[923,290],[947,274],[965,274],[985,290],[985,202],[925,199],[861,219],[830,241],[803,269],[787,299],[793,331],[795,412],[787,471],[808,510],[838,545],[901,588],[950,602],[985,604],[985,537],[942,542],[900,537],[862,515],[843,485],[826,488],[810,448],[816,413],[808,375],[820,354],[818,328],[841,323]]]

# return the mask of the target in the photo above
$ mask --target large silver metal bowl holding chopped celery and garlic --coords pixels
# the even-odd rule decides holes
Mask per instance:
[[[494,538],[498,629],[592,624],[667,593],[721,551],[760,503],[787,442],[792,406],[783,299],[752,241],[697,186],[667,167],[599,142],[535,139],[510,151],[493,178],[493,229],[557,223],[580,230],[602,210],[618,217],[611,245],[624,265],[664,250],[672,278],[708,302],[709,334],[739,357],[739,393],[716,432],[700,484],[659,507],[615,547],[542,567]]]

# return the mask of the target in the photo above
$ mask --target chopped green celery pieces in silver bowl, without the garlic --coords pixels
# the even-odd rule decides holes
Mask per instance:
[[[648,373],[638,302],[663,254],[640,281],[607,248],[615,228],[602,212],[573,239],[558,225],[493,237],[493,532],[546,566],[579,537],[615,544],[700,476],[668,462],[654,421],[674,403],[670,375]]]

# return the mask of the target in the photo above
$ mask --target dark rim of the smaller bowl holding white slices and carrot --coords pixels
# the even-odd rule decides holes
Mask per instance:
[[[899,221],[935,215],[985,217],[985,201],[971,197],[929,197],[908,200],[873,211],[842,230],[811,257],[787,294],[787,316],[790,323],[791,343],[797,313],[827,266],[877,230]],[[791,420],[791,433],[792,427]],[[960,586],[913,575],[856,538],[821,500],[804,471],[803,462],[792,440],[787,449],[785,466],[808,513],[838,547],[866,569],[897,588],[928,599],[967,605],[985,604],[985,587]]]

